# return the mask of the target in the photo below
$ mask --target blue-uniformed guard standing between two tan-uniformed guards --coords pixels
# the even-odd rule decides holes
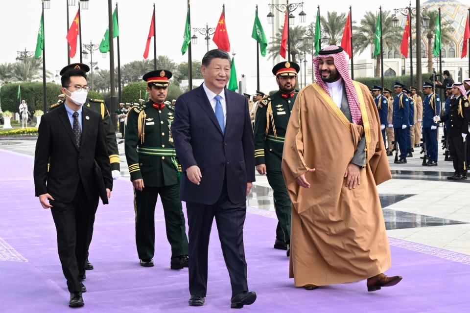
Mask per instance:
[[[400,159],[397,161],[399,164],[406,162],[407,142],[406,128],[410,127],[410,99],[406,93],[403,92],[405,86],[400,82],[395,82],[393,90],[397,94],[393,99],[393,130],[395,133],[395,144],[398,143],[400,149]]]

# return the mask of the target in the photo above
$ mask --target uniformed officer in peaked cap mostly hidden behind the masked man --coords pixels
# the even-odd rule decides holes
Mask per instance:
[[[73,63],[62,68],[60,71],[60,75],[63,75],[66,71],[70,69],[81,69],[85,73],[88,73],[88,71],[90,71],[90,67],[88,67],[88,65],[86,64]],[[59,95],[59,99],[60,99],[60,96],[61,95]],[[64,96],[64,100],[65,100],[65,96]],[[49,107],[49,110],[59,108],[61,105],[64,104],[64,100],[62,101],[59,100],[57,103],[51,105]],[[111,122],[111,118],[109,116],[109,112],[108,112],[108,109],[106,108],[104,100],[87,98],[87,101],[83,104],[83,106],[95,112],[99,112],[101,114],[101,118],[103,119],[103,124],[104,124],[104,130],[106,132],[106,148],[108,150],[109,161],[111,163],[111,174],[113,176],[113,179],[118,179],[121,173],[120,168],[119,168],[118,142],[116,140],[116,132],[114,130],[113,123]],[[96,207],[94,209],[95,211],[98,209],[98,202],[96,203]],[[92,234],[93,234],[93,229],[92,229]],[[90,246],[90,243],[91,243],[91,237],[90,237],[90,242],[88,243],[88,246]],[[93,264],[91,264],[87,258],[87,262],[85,263],[85,269],[91,270],[93,268],[94,268]],[[86,275],[83,277],[83,279],[85,278],[86,278]]]

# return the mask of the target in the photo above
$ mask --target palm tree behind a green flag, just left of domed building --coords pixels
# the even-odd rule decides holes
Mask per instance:
[[[393,26],[393,15],[390,11],[382,11],[382,40],[387,49],[398,48],[401,43],[401,29]],[[354,54],[362,53],[368,46],[374,46],[377,14],[367,11],[361,19],[360,26],[353,26]],[[381,54],[376,56],[376,76],[380,75]]]

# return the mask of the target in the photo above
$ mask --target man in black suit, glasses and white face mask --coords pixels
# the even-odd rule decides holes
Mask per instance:
[[[86,65],[61,71],[66,99],[63,106],[41,118],[34,158],[35,192],[42,207],[51,209],[71,307],[84,304],[82,279],[99,200],[95,164],[106,188],[103,201],[111,197],[113,187],[103,120],[99,113],[83,107],[89,87],[81,67]]]

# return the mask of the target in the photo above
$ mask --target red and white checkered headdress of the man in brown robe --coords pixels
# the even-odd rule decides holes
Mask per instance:
[[[336,50],[339,47],[336,45],[329,45],[328,47],[323,48],[322,50]],[[327,84],[322,80],[320,75],[320,70],[318,69],[318,64],[320,63],[320,59],[332,57],[334,66],[336,70],[341,75],[344,81],[344,86],[346,87],[346,96],[348,97],[348,104],[349,109],[351,111],[352,122],[357,125],[362,125],[362,114],[361,109],[359,107],[359,99],[357,98],[356,90],[352,85],[352,79],[349,76],[349,69],[348,69],[348,61],[346,61],[346,54],[344,51],[334,54],[326,54],[326,55],[317,55],[313,58],[313,64],[315,66],[315,77],[317,79],[317,84],[325,90],[325,92],[331,97],[329,94],[329,89]]]

